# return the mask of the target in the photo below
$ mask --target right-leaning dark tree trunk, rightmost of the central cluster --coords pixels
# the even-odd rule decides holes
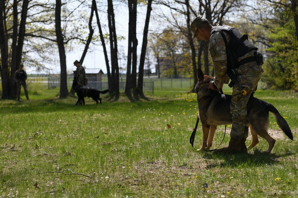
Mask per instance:
[[[150,13],[152,10],[151,3],[152,3],[152,0],[148,0],[147,14],[146,14],[146,20],[145,20],[144,33],[143,33],[143,43],[142,43],[142,50],[141,50],[141,57],[140,57],[138,87],[136,89],[136,91],[138,91],[139,93],[143,93],[144,64],[145,64],[145,55],[146,55],[146,49],[147,49],[147,43],[148,43],[147,37],[148,37]]]

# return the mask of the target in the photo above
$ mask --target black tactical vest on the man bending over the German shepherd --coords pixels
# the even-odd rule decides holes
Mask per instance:
[[[235,28],[227,25],[223,25],[220,28],[222,31],[228,32],[230,36],[230,41],[228,44],[232,51],[233,57],[231,58],[233,58],[233,60],[235,61],[235,65],[238,65],[238,58],[244,56],[251,50],[258,50],[257,47],[255,47],[251,42],[249,42],[247,34],[242,35]]]

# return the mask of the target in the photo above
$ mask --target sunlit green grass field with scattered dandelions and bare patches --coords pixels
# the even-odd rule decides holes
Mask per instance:
[[[297,197],[298,102],[291,91],[255,97],[279,110],[294,141],[270,114],[277,140],[271,154],[261,154],[268,143],[260,138],[247,155],[215,156],[189,144],[198,107],[187,89],[75,106],[75,97],[56,97],[58,88],[35,86],[28,101],[23,92],[21,101],[0,101],[0,197]],[[218,126],[212,147],[223,135]],[[194,146],[201,146],[201,124]]]

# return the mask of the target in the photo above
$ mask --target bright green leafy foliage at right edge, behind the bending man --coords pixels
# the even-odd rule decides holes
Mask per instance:
[[[268,34],[273,42],[266,49],[270,55],[263,66],[263,78],[270,88],[298,90],[298,42],[295,35],[291,16]]]

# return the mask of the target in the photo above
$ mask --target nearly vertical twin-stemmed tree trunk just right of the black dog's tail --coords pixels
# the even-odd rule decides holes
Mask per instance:
[[[108,0],[108,26],[110,31],[111,47],[111,91],[115,96],[119,96],[119,66],[117,56],[117,36],[115,27],[115,16],[113,1]]]

